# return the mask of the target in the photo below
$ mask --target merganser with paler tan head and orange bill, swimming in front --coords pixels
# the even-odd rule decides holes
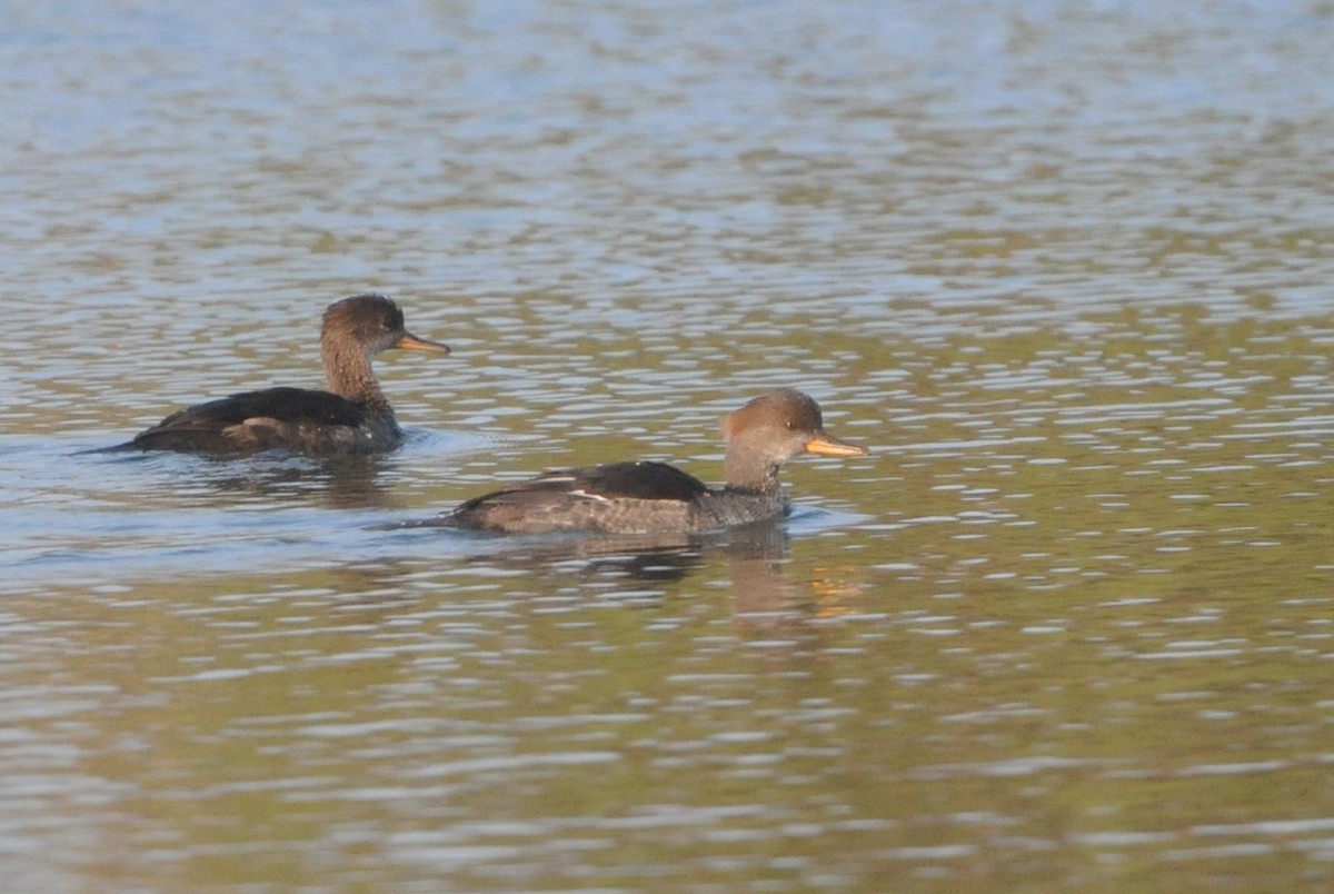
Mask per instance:
[[[416,524],[510,534],[708,531],[787,515],[791,504],[778,468],[792,456],[870,452],[827,435],[819,404],[791,388],[724,416],[723,435],[724,487],[708,487],[666,463],[610,463],[547,472]]]

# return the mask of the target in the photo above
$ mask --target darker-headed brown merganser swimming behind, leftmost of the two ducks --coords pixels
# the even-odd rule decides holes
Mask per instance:
[[[403,440],[394,410],[371,370],[388,348],[448,354],[403,328],[403,311],[383,295],[355,295],[329,304],[320,328],[328,391],[264,388],[195,404],[133,440],[107,451],[175,450],[249,454],[283,448],[300,454],[375,454]]]

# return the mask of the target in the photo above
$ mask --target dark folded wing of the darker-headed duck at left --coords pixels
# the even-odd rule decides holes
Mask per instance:
[[[283,426],[348,426],[366,419],[364,407],[328,391],[264,388],[188,407],[140,432],[123,447],[131,450],[228,450],[243,447],[228,431],[251,419]],[[253,444],[252,444],[253,446]]]

